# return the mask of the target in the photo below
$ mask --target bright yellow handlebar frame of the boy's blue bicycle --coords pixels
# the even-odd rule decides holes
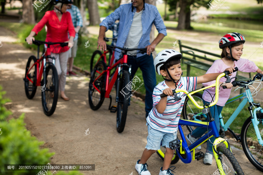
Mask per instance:
[[[184,93],[186,93],[187,96],[189,97],[189,99],[193,102],[193,104],[194,104],[197,108],[203,109],[204,107],[203,107],[203,106],[200,106],[199,104],[197,104],[197,102],[193,99],[193,97],[192,97],[191,95],[194,94],[195,92],[199,92],[199,91],[204,90],[204,89],[207,89],[207,88],[211,88],[211,87],[214,87],[214,86],[215,86],[215,87],[218,87],[218,86],[219,86],[219,79],[222,78],[222,77],[225,76],[225,75],[226,75],[225,73],[220,74],[220,75],[217,77],[216,83],[214,83],[214,84],[212,84],[212,85],[210,85],[210,86],[204,87],[204,88],[202,88],[202,89],[195,90],[195,91],[190,92],[190,93],[187,92],[187,90],[184,90],[184,89],[177,89],[177,90],[175,90],[175,92],[184,92]],[[215,100],[214,100],[214,102],[210,103],[209,107],[214,106],[214,105],[217,103],[217,101],[218,101],[218,93],[219,93],[219,89],[216,88],[216,91],[215,91]],[[208,106],[207,106],[207,107],[208,107]]]

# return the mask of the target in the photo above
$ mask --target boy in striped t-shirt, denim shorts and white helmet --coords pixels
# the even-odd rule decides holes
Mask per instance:
[[[161,167],[159,175],[172,175],[169,168],[174,150],[169,148],[169,142],[177,138],[178,122],[184,105],[186,94],[178,92],[178,101],[168,101],[174,99],[172,89],[185,89],[188,92],[196,90],[196,85],[215,80],[221,73],[205,74],[199,77],[181,77],[183,75],[181,69],[182,54],[172,50],[165,49],[158,53],[154,59],[155,71],[162,76],[164,80],[159,83],[153,91],[153,108],[147,117],[148,136],[147,145],[141,159],[137,161],[135,168],[140,175],[150,175],[147,169],[146,161],[150,156],[160,149],[162,146],[166,148],[163,167]],[[234,68],[227,68],[230,73]],[[167,97],[160,97],[160,94],[166,94]]]

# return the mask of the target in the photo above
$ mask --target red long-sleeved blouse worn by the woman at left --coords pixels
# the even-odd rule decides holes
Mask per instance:
[[[46,42],[65,42],[68,41],[68,32],[70,36],[75,37],[75,29],[69,12],[63,13],[61,21],[59,22],[58,16],[54,10],[47,11],[43,18],[35,25],[32,31],[37,33],[46,24],[48,30],[46,34]],[[61,53],[69,50],[69,47],[60,47],[59,44],[51,45],[52,53]]]

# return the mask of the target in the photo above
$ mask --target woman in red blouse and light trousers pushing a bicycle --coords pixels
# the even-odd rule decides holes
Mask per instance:
[[[55,67],[58,71],[59,90],[61,91],[61,98],[68,101],[69,98],[65,95],[65,85],[67,76],[67,62],[69,55],[69,48],[73,46],[73,39],[75,37],[75,29],[72,24],[70,13],[67,12],[67,5],[72,4],[71,0],[54,0],[54,10],[47,11],[44,17],[35,25],[29,36],[26,38],[28,44],[32,44],[34,36],[46,24],[48,30],[46,34],[46,42],[68,42],[68,47],[60,47],[59,45],[51,45],[51,57],[56,58]],[[68,32],[70,39],[68,40]],[[52,60],[49,60],[52,62]]]

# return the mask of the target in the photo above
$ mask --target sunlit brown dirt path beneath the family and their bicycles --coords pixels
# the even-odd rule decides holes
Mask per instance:
[[[30,55],[35,52],[18,44],[8,43],[14,36],[4,39],[10,33],[0,27],[0,84],[7,91],[5,97],[12,100],[6,105],[13,112],[10,118],[17,118],[25,113],[26,127],[37,139],[44,141],[47,147],[56,154],[51,164],[95,164],[95,171],[83,171],[83,174],[137,174],[134,166],[146,146],[147,127],[144,118],[143,102],[132,99],[124,132],[116,131],[116,113],[108,111],[109,99],[105,99],[98,111],[92,111],[88,104],[89,78],[79,74],[67,77],[66,94],[70,101],[58,99],[55,113],[51,117],[44,115],[41,105],[41,90],[32,100],[24,92],[23,76],[25,65]],[[114,93],[112,93],[114,96]],[[84,132],[89,128],[90,134]],[[188,134],[186,127],[185,134]],[[234,144],[234,142],[233,142]],[[236,143],[238,144],[238,143]],[[205,152],[206,144],[202,145]],[[243,151],[232,146],[233,153],[245,174],[259,175],[259,172],[247,160]],[[162,160],[154,154],[148,160],[148,169],[152,175],[159,173]],[[203,161],[175,164],[177,174],[211,175],[217,169],[215,161],[212,166]]]

